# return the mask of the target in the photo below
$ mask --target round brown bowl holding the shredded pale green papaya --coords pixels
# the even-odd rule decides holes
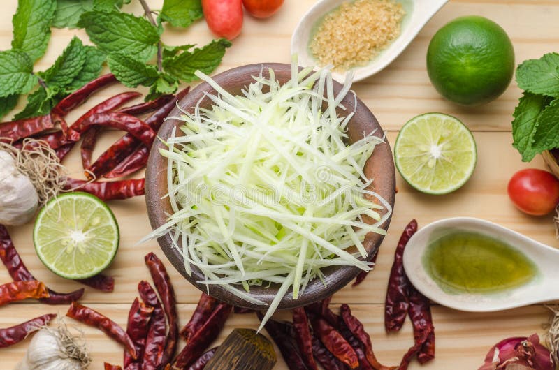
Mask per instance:
[[[250,82],[252,82],[252,77],[254,75],[258,75],[261,71],[264,71],[266,75],[266,71],[268,68],[273,68],[275,71],[275,77],[279,82],[286,82],[291,78],[291,66],[289,64],[250,64],[247,66],[241,66],[238,68],[233,68],[229,71],[224,73],[220,73],[216,75],[214,80],[224,87],[228,92],[231,94],[240,94],[240,91],[243,87],[246,87]],[[334,89],[335,92],[340,91],[341,84],[334,82]],[[201,101],[203,98],[204,93],[216,94],[216,91],[210,87],[209,84],[203,82],[202,84],[198,85],[195,89],[190,91],[190,93],[179,102],[180,107],[183,110],[187,110],[189,112],[194,111],[194,106],[198,101]],[[357,106],[355,107],[355,115],[349,121],[348,124],[348,135],[349,135],[349,142],[354,142],[359,138],[363,138],[363,133],[370,133],[375,131],[375,135],[382,137],[384,135],[384,131],[382,130],[381,126],[379,125],[375,116],[372,115],[370,110],[365,106],[365,104],[357,99],[356,101]],[[354,111],[355,100],[353,94],[348,94],[346,98],[342,101],[342,104],[347,108],[347,112]],[[201,101],[201,106],[209,106],[209,99],[203,98]],[[347,114],[340,110],[338,114]],[[175,108],[173,112],[170,113],[170,117],[177,117],[181,114],[178,108]],[[167,119],[161,129],[159,130],[159,137],[166,139],[170,135],[170,132],[173,130],[173,127],[179,126],[180,121],[176,119]],[[177,132],[179,132],[177,130]],[[152,224],[152,228],[158,228],[163,223],[166,222],[166,214],[173,213],[168,198],[163,198],[164,195],[167,193],[167,160],[163,156],[159,154],[159,149],[164,147],[160,140],[156,140],[152,147],[150,153],[150,159],[147,163],[147,171],[146,171],[146,202],[147,202],[147,213],[150,216],[150,222]],[[390,149],[390,145],[388,142],[377,145],[375,151],[373,152],[371,158],[365,163],[364,169],[365,175],[369,178],[375,179],[372,183],[371,188],[379,193],[390,205],[394,205],[394,198],[395,198],[395,169],[394,169],[394,162],[392,158],[392,152]],[[389,227],[390,219],[382,225],[384,229]],[[365,237],[365,241],[363,245],[365,249],[369,252],[369,258],[377,253],[379,245],[382,242],[382,235],[377,235],[373,233],[369,233]],[[197,283],[197,281],[201,281],[204,279],[203,274],[194,267],[192,269],[192,276],[189,276],[184,270],[184,262],[182,260],[182,256],[173,247],[171,239],[168,235],[160,237],[157,239],[159,242],[159,246],[164,251],[167,258],[173,264],[173,266],[186,278],[190,281],[196,288],[206,291],[206,286],[203,284]],[[320,299],[324,299],[333,295],[337,290],[340,290],[344,287],[349,281],[354,279],[357,274],[359,273],[359,269],[356,267],[327,267],[323,269],[325,279],[324,286],[323,282],[319,279],[314,279],[307,288],[303,295],[300,295],[298,299],[293,300],[291,295],[291,289],[282,299],[282,302],[279,304],[279,309],[290,309],[296,306],[304,306],[306,304],[310,304],[312,302],[316,302]],[[277,293],[277,285],[272,285],[268,288],[263,286],[252,286],[250,290],[250,295],[256,299],[260,299],[263,302],[269,304],[274,299]],[[210,295],[216,297],[217,299],[221,299],[224,302],[228,302],[235,306],[241,306],[246,308],[252,309],[263,309],[263,306],[257,306],[251,304],[249,302],[245,302],[243,299],[236,297],[235,295],[229,293],[228,291],[224,290],[220,286],[211,285],[210,286]]]

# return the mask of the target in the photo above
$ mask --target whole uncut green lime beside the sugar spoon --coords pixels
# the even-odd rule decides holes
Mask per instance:
[[[514,73],[514,48],[498,24],[479,16],[444,25],[427,51],[427,72],[435,89],[463,105],[479,105],[500,96]]]

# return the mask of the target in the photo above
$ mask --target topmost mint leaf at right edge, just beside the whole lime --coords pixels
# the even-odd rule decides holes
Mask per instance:
[[[532,94],[559,97],[559,54],[524,61],[516,70],[516,82]]]

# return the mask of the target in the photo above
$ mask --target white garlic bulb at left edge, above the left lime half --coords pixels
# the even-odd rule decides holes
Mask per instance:
[[[38,194],[29,177],[15,168],[15,160],[0,151],[0,224],[23,225],[38,206]]]

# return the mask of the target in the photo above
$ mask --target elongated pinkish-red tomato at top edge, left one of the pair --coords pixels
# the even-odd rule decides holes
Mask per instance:
[[[239,36],[242,28],[241,0],[202,0],[205,22],[215,34],[228,40]]]

